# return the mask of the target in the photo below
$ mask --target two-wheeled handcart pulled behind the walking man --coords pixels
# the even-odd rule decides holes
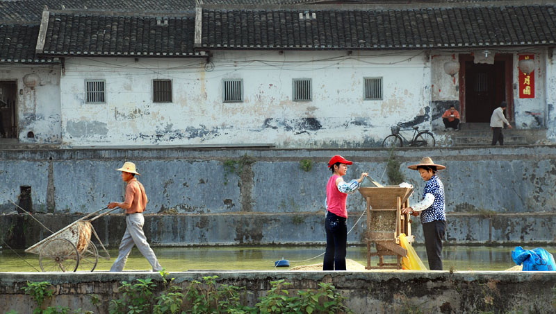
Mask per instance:
[[[107,207],[89,213],[71,225],[35,243],[25,252],[39,255],[39,265],[43,272],[76,272],[77,270],[92,272],[97,267],[100,256],[97,246],[91,241],[92,234],[95,234],[97,241],[106,253],[106,256],[100,257],[106,260],[110,259],[110,254],[108,254],[91,224],[92,221],[119,208],[116,207],[100,213],[105,209]]]

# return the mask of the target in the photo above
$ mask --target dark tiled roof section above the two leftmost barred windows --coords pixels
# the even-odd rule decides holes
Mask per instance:
[[[184,56],[193,51],[195,17],[50,12],[44,55]]]

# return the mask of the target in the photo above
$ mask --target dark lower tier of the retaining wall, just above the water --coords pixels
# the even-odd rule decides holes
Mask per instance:
[[[357,216],[353,216],[351,229]],[[78,215],[35,215],[54,231],[81,218]],[[229,213],[145,215],[145,234],[153,246],[167,245],[274,245],[324,244],[324,216],[320,213]],[[556,225],[556,216],[542,213],[448,215],[447,245],[554,245],[555,234],[548,230]],[[93,222],[105,246],[117,247],[125,231],[123,215],[106,216]],[[20,234],[17,230],[23,230]],[[366,218],[359,221],[348,235],[352,244],[363,242]],[[11,247],[26,248],[50,233],[24,215],[0,215],[3,239]],[[412,233],[416,243],[424,243],[419,220],[414,219]]]

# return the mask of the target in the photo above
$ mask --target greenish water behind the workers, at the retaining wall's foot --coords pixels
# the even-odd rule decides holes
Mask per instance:
[[[533,249],[534,247],[524,247]],[[544,247],[548,252],[556,253],[556,247]],[[290,261],[291,267],[322,263],[322,256],[311,259],[325,252],[324,246],[258,246],[258,247],[154,247],[154,252],[161,265],[170,272],[187,270],[287,270],[275,268],[279,259]],[[424,246],[415,246],[415,250],[425,265],[427,254]],[[514,247],[476,247],[446,246],[443,250],[444,269],[449,270],[506,270],[515,266],[512,261]],[[95,270],[110,270],[117,256],[117,249],[109,250],[111,260],[99,259]],[[19,254],[19,256],[17,254]],[[366,265],[366,247],[348,247],[347,259]],[[311,259],[309,261],[304,261]],[[393,261],[393,259],[385,259]],[[371,259],[376,265],[377,257]],[[133,248],[124,270],[150,270],[151,267],[140,252]],[[23,250],[0,249],[0,272],[35,272],[40,271],[39,256],[26,254]]]

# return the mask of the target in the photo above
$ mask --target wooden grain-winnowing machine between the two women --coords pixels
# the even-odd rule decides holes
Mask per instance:
[[[413,188],[400,186],[361,187],[359,192],[367,203],[367,266],[373,268],[402,269],[402,257],[407,257],[407,250],[400,245],[400,234],[407,236],[409,243],[414,241],[411,236],[411,220],[409,214],[402,213],[403,207],[409,207],[409,195]],[[376,252],[371,252],[371,244],[375,243]],[[379,256],[377,266],[370,265],[370,257]],[[383,256],[395,256],[395,263],[384,262]]]

